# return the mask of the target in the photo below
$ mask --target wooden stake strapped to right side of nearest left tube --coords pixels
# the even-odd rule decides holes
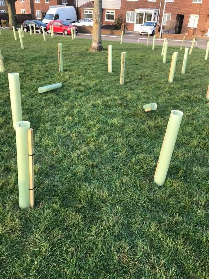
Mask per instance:
[[[29,194],[30,207],[33,208],[35,204],[34,199],[34,148],[33,148],[33,129],[28,129],[28,163],[29,163]]]

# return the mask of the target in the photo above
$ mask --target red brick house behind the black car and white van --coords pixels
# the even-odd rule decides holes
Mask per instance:
[[[1,0],[0,0],[1,1]],[[17,0],[17,14],[31,14],[33,19],[42,20],[50,6],[66,5],[75,7],[76,0]]]

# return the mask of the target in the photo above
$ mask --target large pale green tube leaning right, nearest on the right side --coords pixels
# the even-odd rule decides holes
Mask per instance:
[[[167,176],[167,171],[170,165],[170,160],[173,154],[176,138],[179,133],[183,112],[180,110],[172,110],[167,124],[163,145],[161,147],[160,156],[158,159],[154,182],[158,186],[163,186]]]

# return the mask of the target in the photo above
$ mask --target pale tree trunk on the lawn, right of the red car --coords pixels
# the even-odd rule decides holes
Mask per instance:
[[[102,0],[94,0],[94,8],[93,8],[93,37],[92,44],[89,48],[91,52],[102,51],[102,34],[101,34],[101,26],[102,26]]]

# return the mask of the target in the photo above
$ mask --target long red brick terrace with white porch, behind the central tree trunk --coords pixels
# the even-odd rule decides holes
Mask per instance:
[[[118,16],[126,28],[133,31],[138,31],[146,21],[161,23],[165,1],[164,29],[185,34],[194,28],[199,37],[208,33],[209,0],[103,0],[102,24],[114,24]],[[93,1],[78,0],[78,17],[93,17]]]

